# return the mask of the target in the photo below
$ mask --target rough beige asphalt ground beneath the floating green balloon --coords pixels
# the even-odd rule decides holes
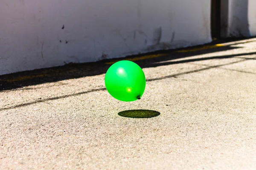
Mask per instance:
[[[148,81],[135,102],[108,94],[104,63],[0,77],[0,169],[255,170],[251,40],[137,61]],[[123,117],[139,109],[154,117]]]

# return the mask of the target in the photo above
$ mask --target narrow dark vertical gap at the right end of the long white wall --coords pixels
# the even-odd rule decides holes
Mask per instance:
[[[221,0],[211,1],[211,33],[212,39],[221,38]]]

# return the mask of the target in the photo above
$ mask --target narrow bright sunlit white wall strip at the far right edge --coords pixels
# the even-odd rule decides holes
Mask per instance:
[[[248,20],[251,36],[256,36],[256,0],[248,0]]]

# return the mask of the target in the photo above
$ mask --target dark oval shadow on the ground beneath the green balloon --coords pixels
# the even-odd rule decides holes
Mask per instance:
[[[123,117],[131,117],[131,118],[151,118],[160,115],[158,111],[151,110],[129,110],[129,111],[121,111],[118,113],[119,116]]]

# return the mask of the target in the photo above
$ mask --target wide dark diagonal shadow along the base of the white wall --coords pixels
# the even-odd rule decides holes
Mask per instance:
[[[234,40],[234,42],[236,42],[236,40]],[[211,44],[217,44],[222,42],[228,42],[228,41],[217,40],[215,42],[212,42]],[[239,43],[245,43],[245,42],[236,42],[236,44],[239,44]],[[202,48],[202,47],[205,47],[205,46],[199,45],[197,47],[192,47],[192,49]],[[157,67],[160,65],[193,62],[194,60],[184,60],[180,62],[170,62],[170,60],[186,58],[186,57],[191,57],[191,56],[196,56],[201,54],[209,54],[209,53],[218,52],[218,51],[227,51],[235,48],[242,48],[242,47],[237,47],[237,46],[234,47],[232,45],[227,45],[227,46],[221,46],[218,48],[210,48],[210,49],[202,48],[202,50],[199,50],[199,51],[192,50],[186,53],[175,52],[175,51],[179,51],[179,49],[156,51],[153,53],[148,53],[147,55],[164,54],[164,56],[151,58],[151,59],[144,59],[144,60],[136,61],[136,63],[139,64],[142,68],[148,68],[148,67]],[[189,48],[185,48],[185,49],[187,50]],[[129,60],[131,58],[136,58],[136,57],[145,56],[145,55],[146,54],[123,57],[123,58],[118,58],[118,60],[122,60],[122,59]],[[246,55],[246,54],[243,54],[243,55]],[[233,56],[223,56],[223,58],[228,58],[228,57],[233,57]],[[214,58],[209,57],[209,58],[201,58],[201,59],[206,60],[206,59],[214,59]],[[215,59],[221,59],[221,58],[215,57]],[[108,68],[110,67],[110,65],[105,64],[105,62],[111,62],[115,60],[116,59],[108,59],[108,60],[102,60],[99,62],[68,64],[60,67],[44,68],[44,69],[38,69],[34,71],[23,71],[23,72],[18,72],[14,74],[2,75],[0,76],[0,91],[26,87],[29,85],[38,85],[46,82],[58,82],[65,79],[76,79],[80,77],[105,74]],[[200,59],[198,59],[198,61],[200,61]]]

